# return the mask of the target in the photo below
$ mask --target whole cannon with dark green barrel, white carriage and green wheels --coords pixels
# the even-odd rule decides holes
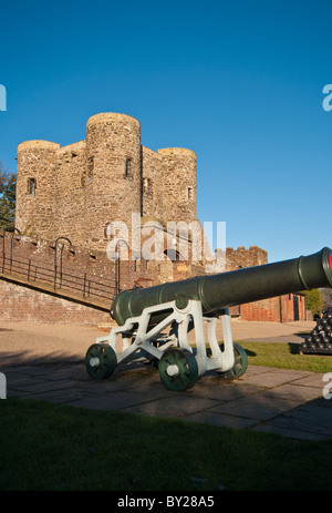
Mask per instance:
[[[111,307],[118,326],[87,349],[86,370],[106,379],[117,365],[143,358],[158,367],[162,383],[173,391],[187,390],[212,370],[238,379],[248,357],[232,341],[229,307],[319,287],[332,287],[328,247],[290,260],[123,290]],[[217,340],[220,320],[224,343]],[[188,341],[193,329],[195,345]]]

